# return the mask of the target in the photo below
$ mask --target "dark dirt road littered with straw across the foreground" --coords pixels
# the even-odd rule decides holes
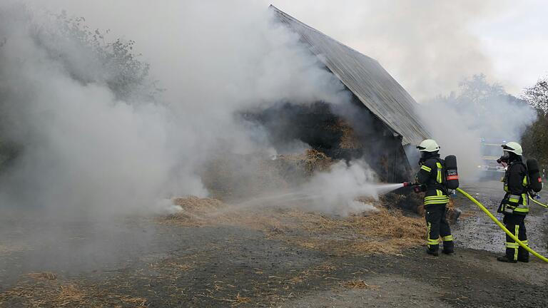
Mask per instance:
[[[497,185],[465,190],[494,210]],[[237,226],[143,217],[48,225],[9,213],[0,217],[0,307],[548,307],[548,265],[497,262],[502,231],[459,203],[457,253],[440,257],[425,247],[330,252]],[[545,213],[532,205],[527,222],[542,253]]]

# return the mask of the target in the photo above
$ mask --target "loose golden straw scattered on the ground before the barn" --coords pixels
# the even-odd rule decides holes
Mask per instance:
[[[183,211],[161,221],[182,227],[230,225],[260,230],[291,245],[341,255],[399,254],[425,243],[424,218],[367,201],[375,202],[377,212],[336,217],[288,207],[233,207],[215,199],[188,197],[176,200]]]

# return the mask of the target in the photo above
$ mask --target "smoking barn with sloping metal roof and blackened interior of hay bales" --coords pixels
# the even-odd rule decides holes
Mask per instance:
[[[335,160],[362,158],[380,180],[407,180],[411,168],[405,147],[429,135],[420,124],[417,103],[375,59],[270,6],[280,23],[299,35],[351,95],[351,106],[330,102],[280,102],[246,115],[263,125],[273,145],[300,140]]]

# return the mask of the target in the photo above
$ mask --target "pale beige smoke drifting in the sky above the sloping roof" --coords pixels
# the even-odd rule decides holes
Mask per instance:
[[[337,6],[331,1],[275,1],[278,4],[377,59],[417,101],[449,93],[475,73],[496,77],[473,28],[510,8],[509,1],[470,0],[346,0]]]

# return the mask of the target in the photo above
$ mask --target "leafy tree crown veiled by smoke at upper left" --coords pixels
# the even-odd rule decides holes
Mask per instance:
[[[134,53],[135,41],[108,41],[108,30],[90,29],[86,19],[70,17],[65,11],[54,15],[47,26],[31,29],[36,45],[52,60],[63,63],[76,81],[106,84],[116,98],[128,103],[155,101],[162,91],[148,76],[149,64]],[[86,57],[87,66],[82,65],[82,57]]]

